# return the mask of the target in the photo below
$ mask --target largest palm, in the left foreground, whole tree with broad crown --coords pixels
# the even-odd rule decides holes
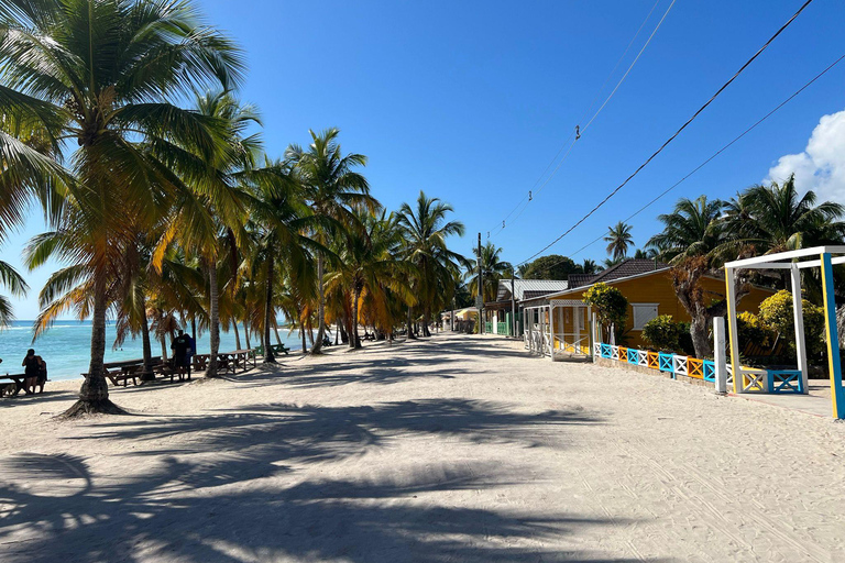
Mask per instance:
[[[153,225],[178,192],[145,148],[175,153],[182,143],[213,153],[216,122],[176,101],[197,86],[235,86],[241,52],[200,24],[190,1],[3,2],[0,19],[2,112],[37,123],[56,144],[78,146],[64,168],[2,136],[4,152],[15,155],[6,172],[20,184],[44,185],[51,175],[65,180],[61,220],[39,239],[32,264],[56,254],[74,265],[69,278],[90,285],[91,361],[66,415],[118,412],[102,366],[106,316],[118,298],[111,279],[132,234]]]

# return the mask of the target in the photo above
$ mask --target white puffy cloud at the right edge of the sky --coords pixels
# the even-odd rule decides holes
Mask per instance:
[[[799,192],[813,190],[819,202],[845,203],[845,110],[822,117],[804,152],[778,158],[765,181],[780,183],[790,174]]]

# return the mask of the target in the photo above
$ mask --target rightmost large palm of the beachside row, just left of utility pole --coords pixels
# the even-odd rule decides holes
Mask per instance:
[[[446,240],[451,235],[463,235],[463,223],[448,221],[452,206],[439,198],[428,198],[420,190],[416,208],[403,203],[399,208],[398,223],[404,231],[404,254],[414,266],[416,274],[411,287],[422,309],[422,332],[429,335],[428,319],[438,305],[451,302],[456,287],[460,284],[461,264],[465,260],[447,247]],[[411,306],[408,307],[408,338],[413,339]]]

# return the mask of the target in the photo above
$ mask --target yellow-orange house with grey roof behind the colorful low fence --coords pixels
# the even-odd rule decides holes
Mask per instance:
[[[540,322],[538,316],[542,314],[545,327],[548,327],[551,313],[552,324],[549,332],[555,335],[556,350],[589,354],[588,307],[579,303],[584,294],[599,283],[619,289],[628,300],[628,318],[624,330],[625,344],[628,346],[646,346],[643,340],[643,327],[655,317],[671,314],[676,321],[691,320],[674,292],[671,269],[667,264],[652,260],[626,260],[596,275],[571,275],[566,290],[547,295],[542,300],[536,299],[523,303],[527,308],[541,303],[559,305],[547,307],[545,310],[537,308],[534,312],[536,322]],[[725,298],[724,279],[707,276],[702,279],[702,286],[714,300]],[[748,295],[739,301],[738,312],[757,312],[760,302],[772,294],[775,294],[772,289],[751,287]],[[571,350],[573,343],[577,344],[575,350]]]

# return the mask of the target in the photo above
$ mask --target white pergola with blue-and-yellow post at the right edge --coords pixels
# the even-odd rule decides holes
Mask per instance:
[[[731,365],[734,393],[809,393],[809,364],[804,342],[804,317],[801,305],[801,271],[821,268],[824,299],[824,325],[827,341],[827,367],[831,376],[833,417],[845,418],[845,389],[842,387],[839,339],[836,330],[836,302],[833,291],[833,265],[845,264],[845,246],[816,246],[799,251],[767,254],[725,264],[727,285],[727,322],[731,338]],[[736,328],[736,294],[734,274],[737,269],[788,269],[792,280],[792,314],[795,324],[798,369],[758,369],[739,365],[739,343]]]

